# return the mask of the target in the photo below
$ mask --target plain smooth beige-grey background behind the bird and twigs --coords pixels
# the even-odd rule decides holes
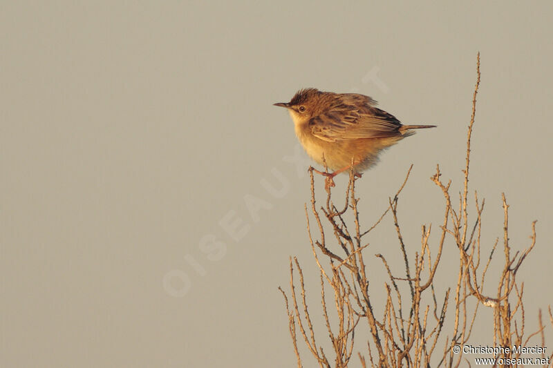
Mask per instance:
[[[461,188],[478,50],[470,184],[486,198],[482,242],[502,236],[504,191],[514,250],[538,220],[519,274],[528,331],[551,303],[551,2],[0,8],[1,366],[294,365],[277,287],[288,285],[289,255],[318,274],[308,177],[290,162],[305,155],[272,104],[309,86],[356,91],[405,124],[439,126],[359,182],[372,224],[414,164],[400,206],[413,253],[420,226],[441,222],[435,165]],[[287,187],[271,194],[263,183],[278,188],[275,173]],[[220,223],[236,221],[233,238]],[[370,254],[397,255],[390,217],[370,241]],[[456,276],[452,254],[441,271]],[[475,335],[491,345],[482,313]]]

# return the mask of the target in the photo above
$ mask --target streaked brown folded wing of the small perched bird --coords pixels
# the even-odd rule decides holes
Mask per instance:
[[[326,142],[399,135],[400,121],[375,104],[364,95],[341,95],[331,108],[310,119],[311,132]]]

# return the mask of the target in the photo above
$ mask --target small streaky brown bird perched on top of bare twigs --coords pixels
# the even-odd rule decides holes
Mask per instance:
[[[322,92],[315,88],[299,90],[290,102],[274,106],[288,109],[294,121],[296,135],[308,155],[326,165],[332,178],[352,166],[354,173],[378,162],[384,148],[415,134],[411,129],[434,128],[435,125],[402,125],[393,115],[376,108],[371,97],[357,93]],[[323,158],[324,157],[324,158]]]

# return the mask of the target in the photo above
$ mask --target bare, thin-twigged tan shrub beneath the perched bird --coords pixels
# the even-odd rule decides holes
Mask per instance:
[[[459,193],[457,202],[450,193],[451,180],[445,183],[440,167],[437,166],[431,180],[443,195],[444,217],[438,229],[439,240],[437,244],[429,244],[431,226],[422,226],[420,251],[415,253],[414,258],[410,259],[407,255],[402,227],[397,219],[397,204],[402,189],[409,180],[411,168],[397,193],[389,198],[386,211],[366,230],[359,224],[359,198],[355,194],[355,185],[359,179],[353,175],[353,171],[346,188],[344,205],[335,206],[331,189],[327,188],[326,203],[318,208],[315,201],[315,176],[313,168],[310,168],[311,199],[310,206],[305,206],[307,229],[313,257],[320,273],[321,317],[326,325],[332,351],[325,351],[323,345],[319,344],[324,335],[316,335],[313,327],[314,316],[319,318],[319,314],[315,315],[312,309],[308,309],[303,270],[297,258],[290,258],[290,291],[287,294],[280,287],[279,289],[285,299],[298,367],[302,367],[298,346],[301,340],[320,367],[348,367],[352,359],[356,360],[355,366],[362,367],[369,364],[373,367],[458,367],[463,359],[462,349],[459,354],[454,354],[453,347],[462,347],[469,342],[477,313],[482,307],[494,311],[494,347],[525,345],[536,335],[537,338],[541,336],[544,346],[541,311],[540,329],[529,335],[525,331],[524,283],[516,278],[517,271],[536,244],[536,222],[532,223],[527,249],[514,251],[509,244],[509,205],[502,194],[503,240],[497,239],[491,249],[487,250],[482,249],[480,244],[485,200],[480,200],[476,191],[474,198],[469,199],[472,197],[469,193],[471,134],[480,84],[479,54],[476,71],[477,80],[467,133],[466,163],[462,171],[462,193]],[[473,205],[474,211],[469,211],[469,207]],[[402,275],[396,275],[388,266],[384,255],[375,255],[386,270],[388,281],[384,282],[386,300],[373,300],[369,293],[367,276],[367,265],[373,258],[369,258],[364,252],[368,246],[364,239],[381,225],[386,215],[393,217],[399,245],[397,251],[404,261],[404,270]],[[449,283],[451,286],[438,296],[435,291],[435,274],[440,266],[442,253],[455,249],[453,246],[446,249],[446,241],[456,244],[458,272]],[[487,271],[492,258],[500,257],[496,252],[498,244],[503,246],[504,260],[500,275],[496,275],[498,284],[494,291],[489,284]],[[488,255],[482,256],[482,252],[487,252]],[[371,267],[377,265],[371,264]],[[373,282],[371,286],[374,287],[375,284]],[[328,296],[329,291],[331,296]],[[333,307],[328,300],[332,300]],[[375,305],[378,305],[377,310],[384,311],[382,316],[376,315]],[[332,308],[335,311],[330,313]],[[553,325],[550,308],[548,312]],[[361,330],[365,333],[368,331],[366,348],[363,342],[359,345],[357,354],[354,354],[356,334],[359,336]],[[510,351],[496,358],[518,358],[520,355]]]

